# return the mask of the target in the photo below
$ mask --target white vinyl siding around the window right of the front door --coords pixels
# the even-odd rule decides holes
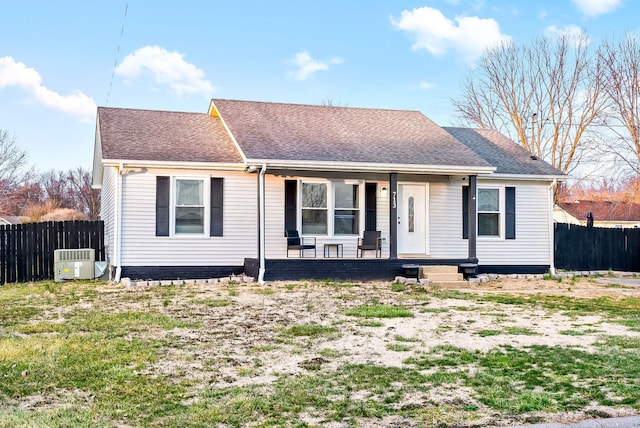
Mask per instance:
[[[462,186],[467,182],[430,186],[431,257],[467,257],[462,239]],[[478,237],[481,265],[549,265],[549,201],[545,182],[478,180],[478,188],[516,188],[516,239]],[[501,193],[502,195],[502,193]]]

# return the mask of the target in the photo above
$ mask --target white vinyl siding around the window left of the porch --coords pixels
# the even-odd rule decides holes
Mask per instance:
[[[240,266],[257,257],[256,176],[207,171],[224,178],[224,236],[155,236],[156,176],[202,178],[202,171],[132,171],[123,176],[123,266]]]

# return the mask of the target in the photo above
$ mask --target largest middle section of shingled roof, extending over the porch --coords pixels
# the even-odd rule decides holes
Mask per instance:
[[[491,167],[418,111],[222,99],[212,105],[249,160]]]

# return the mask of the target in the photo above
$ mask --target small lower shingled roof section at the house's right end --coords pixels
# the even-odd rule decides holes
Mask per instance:
[[[477,155],[496,167],[496,174],[564,175],[547,162],[492,129],[444,127]]]

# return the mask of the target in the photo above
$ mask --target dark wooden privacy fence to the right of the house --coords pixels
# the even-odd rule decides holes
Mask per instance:
[[[640,272],[640,229],[555,224],[555,266]]]

